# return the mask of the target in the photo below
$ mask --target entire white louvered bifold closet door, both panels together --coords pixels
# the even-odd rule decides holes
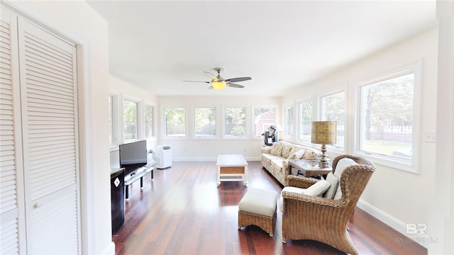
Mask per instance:
[[[76,47],[0,19],[0,254],[80,254]]]

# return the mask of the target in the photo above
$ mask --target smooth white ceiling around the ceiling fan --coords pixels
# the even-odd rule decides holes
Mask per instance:
[[[157,96],[282,96],[436,24],[435,1],[87,1],[110,72]],[[204,71],[252,77],[208,90]]]

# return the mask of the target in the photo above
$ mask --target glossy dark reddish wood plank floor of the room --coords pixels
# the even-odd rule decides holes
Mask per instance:
[[[343,254],[310,240],[282,244],[282,214],[275,235],[258,227],[238,230],[238,201],[248,188],[280,192],[260,162],[249,163],[249,183],[216,186],[216,162],[173,162],[145,176],[143,189],[130,186],[124,225],[112,237],[116,254]],[[357,208],[348,222],[360,254],[427,254],[416,243],[396,242],[402,234]],[[402,239],[400,239],[402,240]]]

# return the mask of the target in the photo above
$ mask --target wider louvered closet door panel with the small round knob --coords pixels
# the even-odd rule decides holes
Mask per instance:
[[[76,50],[18,19],[28,254],[80,251]]]

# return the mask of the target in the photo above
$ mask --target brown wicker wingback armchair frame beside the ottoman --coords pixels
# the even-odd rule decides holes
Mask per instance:
[[[353,159],[341,174],[342,197],[339,200],[282,192],[282,242],[286,239],[311,239],[331,245],[348,254],[358,254],[347,232],[347,221],[362,191],[375,171],[375,165],[367,159],[341,155],[333,160],[333,172],[344,157]],[[316,179],[289,176],[289,186],[308,188]]]

